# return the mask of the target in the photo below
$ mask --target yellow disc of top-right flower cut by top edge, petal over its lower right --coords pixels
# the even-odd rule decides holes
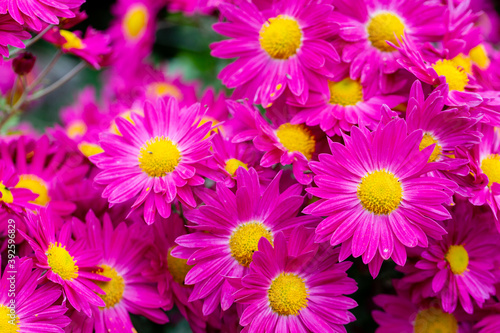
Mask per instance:
[[[405,25],[403,21],[393,13],[380,13],[375,15],[366,28],[368,40],[372,43],[373,47],[382,52],[396,51],[396,49],[388,45],[386,41],[399,46],[397,38],[403,36],[404,30]]]

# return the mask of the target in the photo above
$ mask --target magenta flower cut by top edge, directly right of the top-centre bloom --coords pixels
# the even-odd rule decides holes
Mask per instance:
[[[408,35],[422,45],[438,41],[445,32],[445,6],[426,0],[343,1],[334,0],[333,19],[339,22],[343,40],[342,61],[351,64],[350,76],[359,79],[367,71],[394,73],[399,52],[387,44],[398,45],[400,36]]]

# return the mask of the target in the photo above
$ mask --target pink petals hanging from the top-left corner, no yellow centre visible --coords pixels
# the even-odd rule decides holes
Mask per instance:
[[[85,0],[4,0],[0,3],[0,14],[9,13],[19,24],[26,24],[40,31],[44,22],[59,24],[59,17],[75,17],[71,9],[79,8]]]

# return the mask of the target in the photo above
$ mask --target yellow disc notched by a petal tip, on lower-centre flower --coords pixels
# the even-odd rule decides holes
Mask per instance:
[[[257,251],[259,240],[265,237],[269,242],[273,242],[271,232],[260,222],[247,222],[240,224],[231,234],[229,248],[231,256],[240,265],[248,267],[252,262],[252,256]]]

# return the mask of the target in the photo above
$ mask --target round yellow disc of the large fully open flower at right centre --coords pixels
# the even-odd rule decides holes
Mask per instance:
[[[368,173],[358,185],[361,205],[375,215],[388,215],[398,208],[403,188],[398,178],[385,169]]]

